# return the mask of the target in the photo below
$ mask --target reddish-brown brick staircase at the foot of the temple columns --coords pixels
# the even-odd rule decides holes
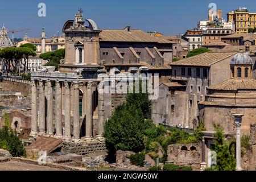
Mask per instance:
[[[46,151],[47,154],[50,154],[57,148],[61,147],[62,143],[62,139],[39,137],[35,142],[31,143],[30,146],[25,147],[25,149],[28,157],[36,157],[39,152]]]

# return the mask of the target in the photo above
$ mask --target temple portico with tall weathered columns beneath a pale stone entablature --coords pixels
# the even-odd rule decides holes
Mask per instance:
[[[71,73],[33,74],[31,137],[46,135],[64,140],[79,140],[81,137],[92,139],[93,121],[97,122],[94,123],[97,126],[94,135],[102,137],[104,94],[98,94],[97,86],[100,82],[95,79],[79,81],[77,75]],[[85,131],[81,132],[84,118]]]

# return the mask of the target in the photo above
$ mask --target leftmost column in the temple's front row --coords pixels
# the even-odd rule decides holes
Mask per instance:
[[[38,136],[38,95],[36,81],[31,81],[31,134],[30,137]]]

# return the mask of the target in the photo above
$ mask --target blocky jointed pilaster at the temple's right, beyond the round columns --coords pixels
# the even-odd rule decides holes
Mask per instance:
[[[104,82],[98,86],[98,127],[97,137],[102,137],[104,132]]]

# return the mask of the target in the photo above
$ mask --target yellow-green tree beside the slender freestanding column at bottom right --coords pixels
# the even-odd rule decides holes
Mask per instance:
[[[216,140],[215,140],[215,151],[217,164],[214,166],[215,171],[234,171],[236,170],[236,159],[234,152],[230,151],[229,142],[225,141],[223,134],[223,128],[220,125],[214,124],[216,130]]]

